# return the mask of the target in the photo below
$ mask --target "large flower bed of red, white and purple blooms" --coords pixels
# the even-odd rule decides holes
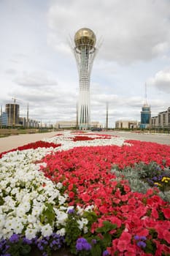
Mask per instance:
[[[170,146],[75,132],[39,145],[1,154],[1,255],[170,255],[169,189],[125,176],[158,167],[167,184]]]

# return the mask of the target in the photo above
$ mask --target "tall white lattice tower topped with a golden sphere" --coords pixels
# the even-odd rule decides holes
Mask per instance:
[[[74,36],[74,56],[79,72],[78,126],[90,128],[90,72],[96,56],[96,35],[90,29],[80,29]]]

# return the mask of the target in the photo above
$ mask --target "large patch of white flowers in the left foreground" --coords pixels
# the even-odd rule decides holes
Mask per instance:
[[[38,233],[50,236],[53,230],[65,234],[71,208],[66,203],[68,195],[60,193],[61,183],[53,184],[39,171],[39,164],[34,164],[50,151],[51,148],[13,151],[0,159],[0,238],[9,238],[23,230],[28,239]],[[52,221],[45,215],[49,205],[55,214]],[[78,211],[83,214],[85,210],[79,208]],[[88,220],[81,218],[79,225],[82,227]]]

